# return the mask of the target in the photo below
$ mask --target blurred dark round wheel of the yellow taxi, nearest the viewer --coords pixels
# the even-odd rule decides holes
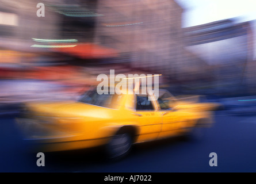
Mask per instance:
[[[132,136],[128,132],[119,132],[112,136],[105,151],[108,159],[117,160],[126,156],[131,150]]]

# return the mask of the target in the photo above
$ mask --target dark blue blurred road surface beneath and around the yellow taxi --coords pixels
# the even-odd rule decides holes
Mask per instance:
[[[99,150],[45,153],[44,167],[21,140],[15,116],[0,117],[0,172],[256,172],[256,114],[215,114],[215,125],[201,140],[137,144],[117,162],[102,159]],[[217,166],[209,166],[211,152],[217,154]]]

